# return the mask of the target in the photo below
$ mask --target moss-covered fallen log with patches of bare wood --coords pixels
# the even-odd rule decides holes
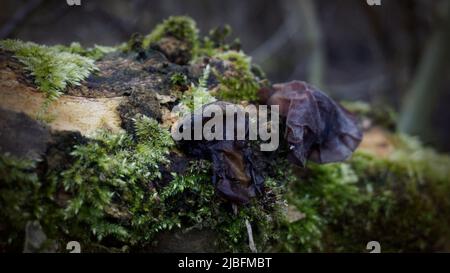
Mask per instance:
[[[372,240],[448,250],[448,157],[383,128],[370,109],[355,108],[365,136],[340,163],[296,166],[287,145],[216,145],[211,159],[174,143],[175,108],[258,104],[269,86],[242,51],[204,40],[191,19],[172,17],[112,50],[0,44],[0,251],[65,252],[78,241],[93,252],[360,252]],[[48,55],[77,61],[67,69]],[[212,181],[255,173],[264,186],[245,204]]]

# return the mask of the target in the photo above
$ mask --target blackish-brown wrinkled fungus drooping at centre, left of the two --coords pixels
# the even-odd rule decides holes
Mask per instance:
[[[248,146],[246,140],[236,140],[235,128],[238,122],[245,122],[246,124],[239,124],[245,126],[245,134],[248,134],[248,120],[235,120],[233,128],[227,128],[225,121],[227,115],[233,115],[236,118],[235,111],[226,110],[226,106],[234,106],[227,102],[213,102],[203,106],[215,106],[222,110],[223,113],[223,140],[182,140],[180,146],[186,152],[198,158],[205,158],[211,160],[213,165],[213,184],[218,193],[225,199],[236,203],[246,204],[251,198],[256,197],[262,193],[264,178],[256,169],[254,164],[254,155],[251,148]],[[240,111],[239,108],[234,108]],[[192,114],[185,117],[182,124],[190,124],[192,136],[194,133],[195,119],[201,119],[202,125],[205,125],[212,117],[204,117],[199,113]],[[183,126],[182,126],[183,127]],[[233,138],[228,137],[226,132],[229,131]],[[247,139],[247,138],[246,138]]]

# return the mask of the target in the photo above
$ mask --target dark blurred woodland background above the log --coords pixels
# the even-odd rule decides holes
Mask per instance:
[[[116,45],[170,15],[228,24],[272,82],[309,81],[398,113],[397,129],[450,151],[450,0],[2,0],[0,39]]]

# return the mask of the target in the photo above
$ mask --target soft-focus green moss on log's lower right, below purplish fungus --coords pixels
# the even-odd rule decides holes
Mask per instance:
[[[281,250],[364,252],[372,240],[386,252],[443,250],[449,166],[405,137],[388,159],[357,152],[346,163],[309,164],[288,197],[305,218],[285,226]]]

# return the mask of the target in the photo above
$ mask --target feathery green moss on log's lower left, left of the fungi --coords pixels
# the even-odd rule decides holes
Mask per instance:
[[[85,145],[75,146],[70,164],[37,175],[36,163],[0,159],[0,243],[20,248],[28,220],[38,220],[50,238],[65,245],[68,237],[85,250],[115,250],[142,245],[159,230],[170,227],[162,218],[154,182],[159,167],[168,164],[172,138],[157,121],[136,119],[136,135],[106,131]],[[104,240],[114,242],[106,244]]]

